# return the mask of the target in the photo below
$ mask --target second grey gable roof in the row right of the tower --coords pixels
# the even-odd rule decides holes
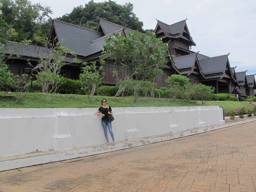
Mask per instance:
[[[202,68],[203,74],[206,76],[206,79],[210,78],[223,78],[226,74],[226,70],[229,71],[231,75],[231,68],[228,61],[228,55],[221,55],[218,57],[212,57],[207,59],[199,60],[199,65]],[[235,80],[235,79],[234,79]]]

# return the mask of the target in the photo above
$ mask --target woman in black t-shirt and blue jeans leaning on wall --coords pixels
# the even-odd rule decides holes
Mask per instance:
[[[108,114],[111,114],[111,115],[113,114],[112,109],[111,109],[110,106],[107,106],[107,100],[106,99],[101,100],[101,105],[102,105],[102,107],[100,107],[95,114],[102,116],[101,124],[103,126],[104,135],[105,135],[105,138],[107,140],[107,145],[109,145],[108,131],[109,131],[109,133],[112,137],[112,140],[113,140],[112,145],[115,145],[114,133],[112,132],[112,124],[111,124],[111,121],[108,120]],[[109,107],[109,111],[108,111],[108,107]],[[108,131],[107,131],[107,126],[108,126]]]

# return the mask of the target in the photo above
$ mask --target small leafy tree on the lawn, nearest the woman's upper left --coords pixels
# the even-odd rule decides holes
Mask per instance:
[[[100,75],[100,71],[102,71],[103,67],[102,64],[104,63],[103,60],[100,60],[100,66],[96,66],[96,61],[92,62],[91,65],[87,65],[87,62],[83,64],[85,67],[82,68],[82,73],[80,73],[79,78],[82,81],[83,91],[88,96],[89,102],[92,102],[92,96],[96,92],[97,87],[102,82],[102,75]]]

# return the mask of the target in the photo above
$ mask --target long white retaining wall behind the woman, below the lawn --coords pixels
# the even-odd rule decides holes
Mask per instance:
[[[106,143],[101,117],[95,115],[97,110],[0,108],[0,158]],[[112,130],[116,141],[224,124],[219,106],[113,107],[112,110],[115,117]],[[108,137],[112,141],[111,136]]]

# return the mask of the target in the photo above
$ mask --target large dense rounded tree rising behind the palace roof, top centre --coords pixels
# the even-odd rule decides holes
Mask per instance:
[[[101,18],[122,26],[127,24],[128,28],[143,32],[143,22],[139,21],[139,18],[136,17],[132,10],[133,4],[131,3],[120,5],[110,0],[102,3],[89,1],[88,4],[79,5],[71,13],[65,14],[58,19],[95,30],[97,29],[99,18]]]

